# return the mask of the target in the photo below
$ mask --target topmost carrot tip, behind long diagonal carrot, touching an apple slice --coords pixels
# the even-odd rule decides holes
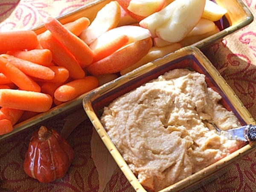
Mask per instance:
[[[81,32],[90,25],[90,20],[87,17],[80,17],[79,19],[64,24],[67,29],[72,32],[74,35],[78,36]]]

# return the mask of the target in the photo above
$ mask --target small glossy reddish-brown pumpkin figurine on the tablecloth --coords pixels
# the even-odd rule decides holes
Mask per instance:
[[[73,148],[57,131],[41,126],[32,134],[23,169],[42,183],[64,177],[74,158]]]

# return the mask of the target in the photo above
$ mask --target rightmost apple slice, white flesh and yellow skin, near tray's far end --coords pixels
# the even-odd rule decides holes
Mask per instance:
[[[221,17],[223,17],[223,15],[225,15],[226,13],[227,9],[225,9],[224,7],[218,5],[217,3],[214,3],[211,0],[206,0],[202,18],[217,21],[221,19]]]

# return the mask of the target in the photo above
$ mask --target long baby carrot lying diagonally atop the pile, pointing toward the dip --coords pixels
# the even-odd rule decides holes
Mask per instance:
[[[92,63],[93,52],[90,47],[64,27],[57,19],[47,17],[44,20],[44,26],[52,33],[54,38],[61,42],[74,55],[81,67]]]

